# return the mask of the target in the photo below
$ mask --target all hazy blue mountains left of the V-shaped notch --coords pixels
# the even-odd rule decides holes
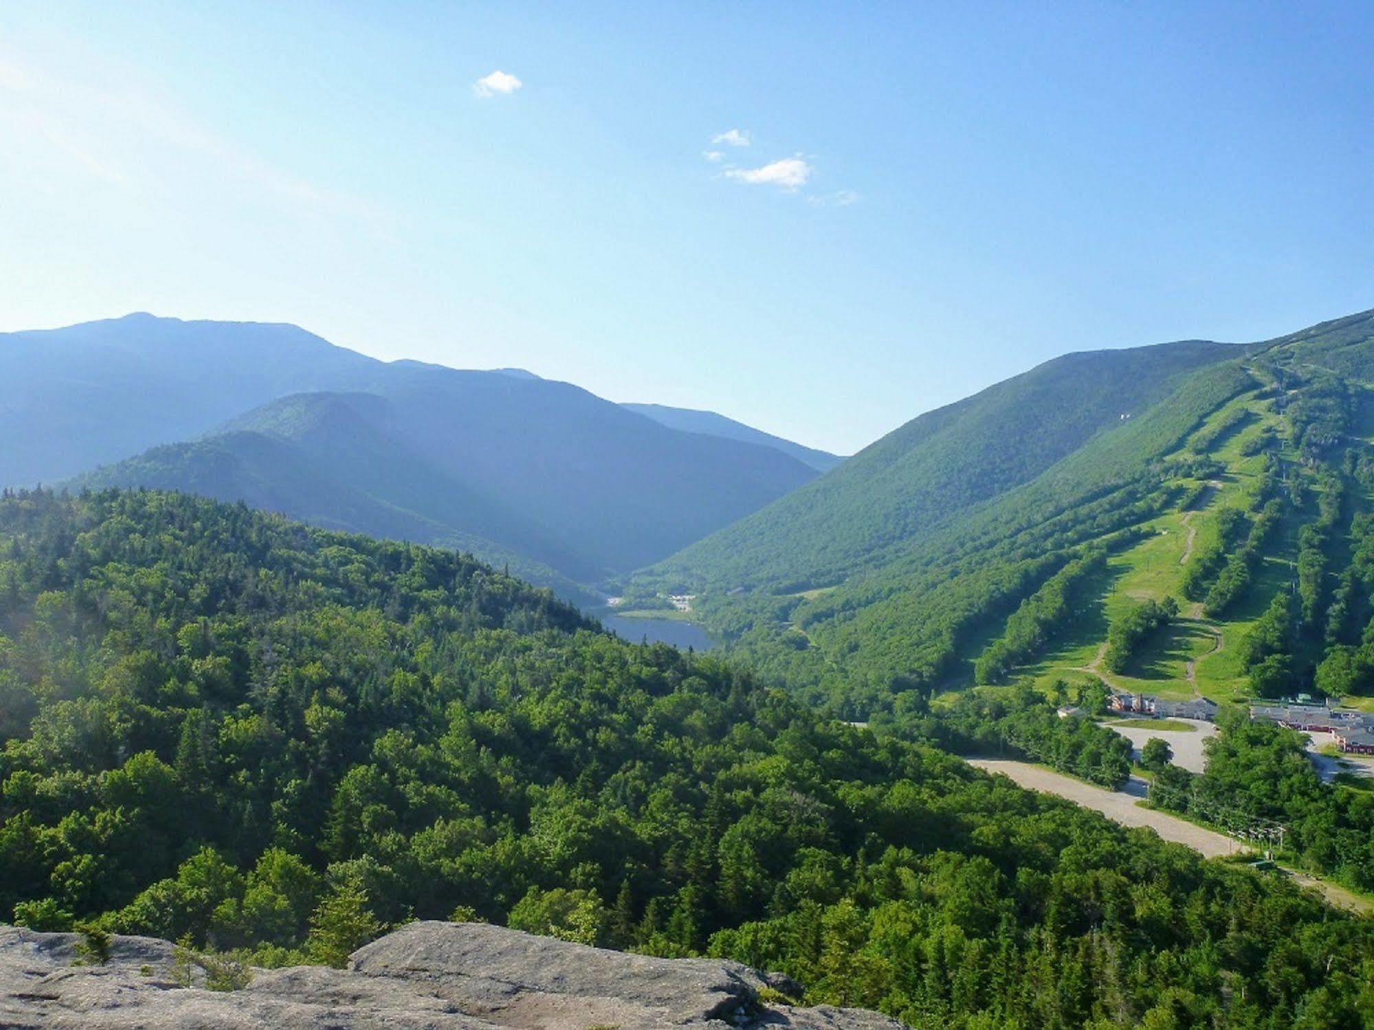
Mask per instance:
[[[470,549],[581,602],[595,595],[580,585],[816,474],[779,448],[675,430],[569,383],[382,363],[293,325],[132,314],[10,334],[0,375],[23,385],[0,411],[15,442],[0,482],[245,500]]]

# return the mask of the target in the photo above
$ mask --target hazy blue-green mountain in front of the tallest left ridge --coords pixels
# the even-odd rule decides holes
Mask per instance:
[[[376,393],[273,401],[77,483],[194,490],[493,562],[515,553],[559,586],[540,570],[598,582],[813,475],[772,448],[679,433],[567,383],[415,369]]]

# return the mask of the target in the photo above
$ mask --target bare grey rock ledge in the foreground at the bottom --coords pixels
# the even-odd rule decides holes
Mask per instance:
[[[651,959],[481,923],[411,923],[348,970],[253,970],[246,986],[184,986],[176,949],[115,937],[103,965],[74,934],[0,928],[0,1027],[82,1030],[901,1030],[852,1008],[796,1008],[778,974],[731,961]]]

